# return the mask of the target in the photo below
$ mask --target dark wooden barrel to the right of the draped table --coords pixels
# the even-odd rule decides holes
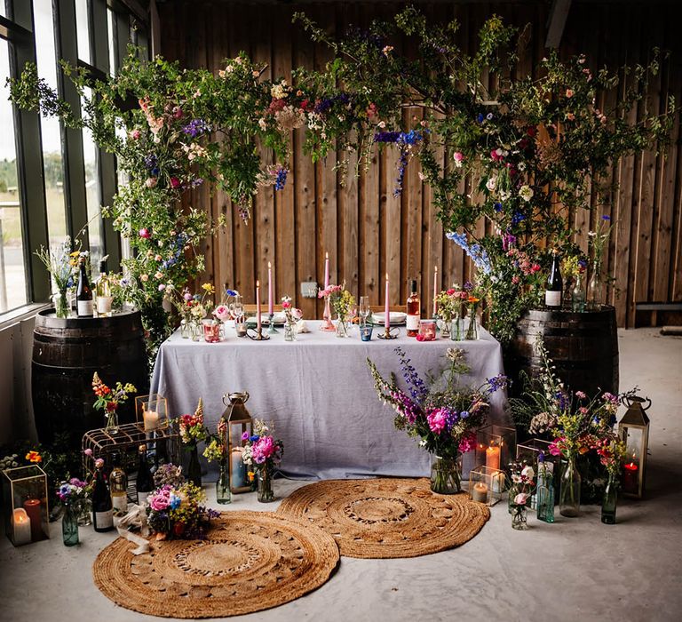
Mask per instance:
[[[505,368],[519,395],[519,376],[537,378],[543,363],[535,348],[541,337],[556,375],[574,391],[594,395],[599,390],[618,393],[618,334],[615,308],[572,313],[532,310],[519,320],[516,337],[505,355]]]

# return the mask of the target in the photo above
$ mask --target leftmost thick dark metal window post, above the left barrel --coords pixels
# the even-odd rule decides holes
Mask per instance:
[[[14,3],[13,19],[33,33],[31,2]],[[27,62],[36,62],[36,41],[33,35],[12,37],[10,72],[19,76]],[[21,202],[21,227],[24,235],[24,266],[27,272],[28,302],[43,302],[50,298],[51,283],[34,251],[49,246],[47,203],[45,201],[43,149],[40,140],[40,117],[36,112],[13,107],[16,128],[17,174]]]

